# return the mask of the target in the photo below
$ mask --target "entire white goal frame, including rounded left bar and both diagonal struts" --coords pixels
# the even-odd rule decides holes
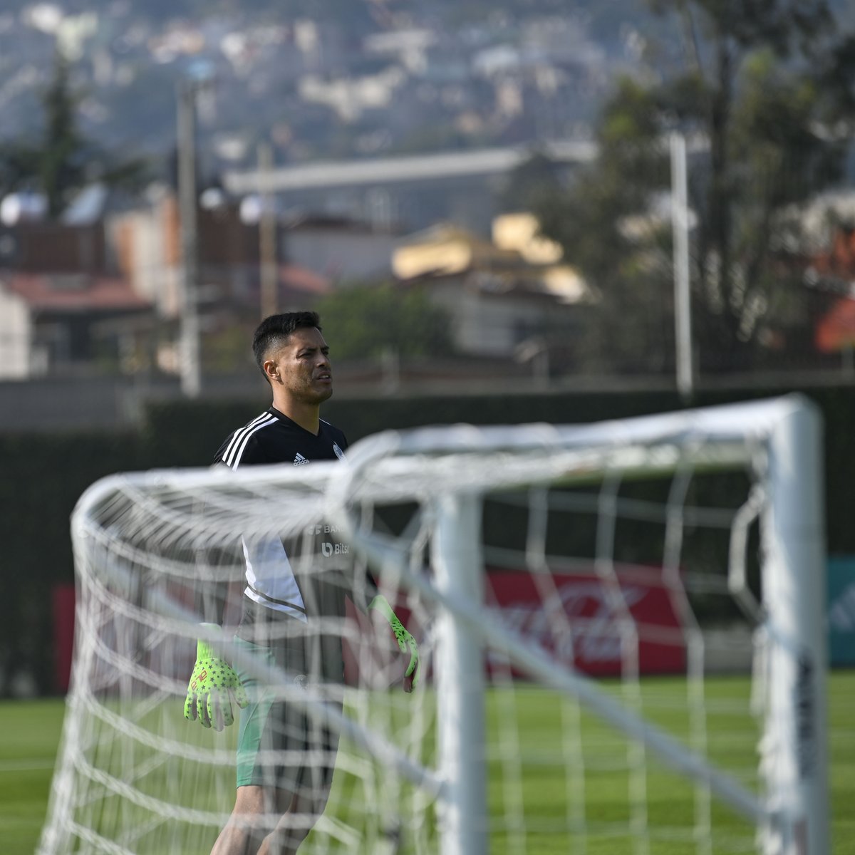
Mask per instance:
[[[483,466],[485,457],[493,465]],[[583,484],[613,471],[644,477],[695,469],[756,468],[768,490],[760,521],[764,552],[763,628],[767,634],[769,713],[760,768],[764,799],[713,769],[703,758],[640,719],[593,680],[558,668],[540,647],[486,619],[479,543],[480,499],[486,490],[534,484]],[[313,464],[305,472],[257,467],[238,473],[210,470],[115,475],[98,481],[81,498],[73,517],[75,548],[87,536],[91,510],[111,491],[172,481],[198,484],[230,479],[263,492],[265,482],[311,484],[327,519],[374,567],[401,587],[439,606],[435,683],[439,703],[439,769],[416,769],[343,716],[340,732],[384,763],[429,787],[441,805],[442,855],[486,855],[484,752],[485,642],[510,654],[516,668],[547,686],[580,699],[607,722],[640,740],[682,775],[758,825],[764,855],[828,855],[828,757],[826,734],[825,545],[822,422],[807,399],[684,410],[593,425],[528,425],[498,428],[455,426],[381,433],[351,447],[348,463]],[[471,471],[479,473],[475,479]],[[363,527],[364,500],[418,500],[434,515],[433,583],[408,565],[392,538]],[[178,604],[159,601],[163,614],[190,617]],[[80,616],[79,616],[80,622]],[[79,629],[80,631],[80,629]],[[228,644],[228,652],[239,656]],[[274,675],[275,676],[275,675]],[[311,705],[312,700],[298,699]],[[74,683],[69,709],[74,705]],[[321,715],[330,716],[320,711]],[[67,716],[64,751],[73,752],[74,723]],[[772,752],[771,746],[774,746]],[[774,765],[768,758],[774,757]],[[68,817],[61,775],[74,760],[57,759],[57,775],[40,852],[59,852]],[[66,782],[67,783],[67,782]]]

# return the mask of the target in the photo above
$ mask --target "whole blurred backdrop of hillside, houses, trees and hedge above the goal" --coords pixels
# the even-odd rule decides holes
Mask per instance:
[[[209,463],[275,311],[351,441],[806,392],[855,553],[846,0],[6,0],[0,116],[0,695],[66,686],[80,492]]]

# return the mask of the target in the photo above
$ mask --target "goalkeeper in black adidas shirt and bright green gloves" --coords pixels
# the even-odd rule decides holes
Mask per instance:
[[[318,315],[266,318],[252,349],[273,405],[231,433],[215,463],[231,469],[304,466],[344,457],[344,433],[320,417],[321,404],[333,393],[333,377]],[[346,596],[388,622],[404,654],[404,691],[411,692],[419,678],[416,640],[370,577],[357,581],[343,568],[348,547],[335,540],[334,527],[312,529],[299,543],[243,539],[246,578],[235,643],[295,675],[298,685],[310,684],[340,710],[344,659],[340,635],[330,630],[344,619]],[[298,560],[306,540],[319,546],[311,550],[310,573]],[[221,611],[218,603],[215,612]],[[220,614],[213,616],[221,622]],[[215,647],[199,640],[185,705],[188,719],[216,729],[233,722],[232,700],[242,708],[235,805],[212,855],[291,855],[327,804],[338,734],[310,720],[301,705],[269,698],[252,675],[233,669]]]

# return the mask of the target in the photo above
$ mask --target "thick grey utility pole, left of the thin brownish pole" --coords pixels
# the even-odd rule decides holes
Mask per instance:
[[[181,392],[198,398],[202,391],[199,345],[198,209],[196,189],[197,80],[178,84],[178,203],[181,222]]]

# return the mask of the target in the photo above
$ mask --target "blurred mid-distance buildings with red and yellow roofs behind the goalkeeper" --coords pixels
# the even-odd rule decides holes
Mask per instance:
[[[243,200],[245,202],[245,200]],[[493,239],[451,224],[420,233],[329,216],[275,216],[273,256],[261,218],[239,200],[198,209],[197,306],[203,370],[250,373],[247,336],[271,264],[277,310],[307,309],[355,284],[422,287],[445,310],[460,354],[521,365],[552,351],[566,362],[587,286],[531,215],[502,215]],[[161,187],[91,221],[4,228],[0,268],[3,378],[180,372],[180,215]],[[219,349],[219,350],[218,350]],[[541,362],[537,362],[540,365]],[[500,371],[501,369],[495,369]],[[529,369],[522,369],[529,370]]]

